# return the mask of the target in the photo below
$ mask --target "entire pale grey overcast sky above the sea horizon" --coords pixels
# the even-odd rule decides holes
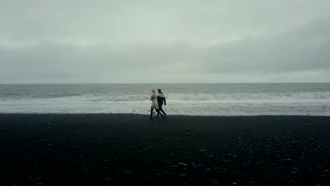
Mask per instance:
[[[329,0],[0,0],[0,83],[330,82]]]

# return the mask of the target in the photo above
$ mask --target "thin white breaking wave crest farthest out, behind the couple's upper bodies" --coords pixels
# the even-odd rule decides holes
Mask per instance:
[[[188,94],[167,94],[166,99],[171,101],[326,101],[330,100],[330,92],[300,92],[300,93],[276,93],[276,94],[202,94],[202,93],[188,93]],[[120,95],[94,95],[83,94],[66,97],[54,98],[20,98],[20,99],[4,99],[1,101],[75,101],[75,102],[108,102],[108,101],[148,101],[149,95],[144,94],[120,94]]]

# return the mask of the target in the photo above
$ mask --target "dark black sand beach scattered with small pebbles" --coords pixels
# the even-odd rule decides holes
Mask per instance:
[[[330,185],[330,117],[0,114],[0,185]]]

